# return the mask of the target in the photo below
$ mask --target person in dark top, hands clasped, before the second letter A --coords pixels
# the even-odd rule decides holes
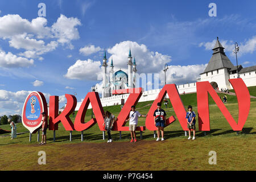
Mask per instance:
[[[166,111],[161,109],[161,102],[158,102],[158,109],[154,111],[154,121],[155,121],[155,126],[158,127],[158,138],[156,141],[159,140],[160,137],[160,131],[162,134],[162,141],[164,140],[164,125],[166,125]]]

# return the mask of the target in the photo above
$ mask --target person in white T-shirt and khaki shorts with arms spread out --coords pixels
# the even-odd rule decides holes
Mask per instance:
[[[129,130],[131,132],[130,143],[137,142],[135,129],[138,125],[138,117],[147,117],[147,114],[142,115],[141,113],[139,113],[139,111],[135,110],[135,106],[131,106],[130,117],[129,119],[125,120],[126,122],[130,120],[129,122]]]

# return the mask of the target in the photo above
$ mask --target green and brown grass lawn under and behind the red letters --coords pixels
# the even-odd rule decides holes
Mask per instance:
[[[197,114],[196,94],[181,95],[181,99],[185,107],[192,105]],[[140,113],[147,114],[151,104],[152,101],[141,102],[137,108]],[[210,97],[209,104],[211,131],[207,136],[203,131],[197,131],[196,140],[187,140],[179,121],[164,129],[166,140],[159,142],[153,138],[153,131],[146,130],[143,139],[137,143],[129,143],[128,131],[122,132],[121,140],[119,131],[112,131],[114,142],[106,143],[97,124],[84,131],[84,142],[81,142],[81,132],[78,131],[73,131],[70,142],[69,131],[65,131],[61,123],[56,131],[56,141],[53,142],[53,131],[47,131],[48,143],[43,146],[38,145],[37,134],[32,134],[31,142],[28,141],[29,133],[17,135],[13,140],[0,137],[1,170],[255,170],[256,99],[251,99],[249,117],[238,135]],[[170,102],[167,109],[163,106],[168,117],[175,115],[170,106]],[[228,96],[226,107],[237,121],[235,96]],[[121,109],[117,105],[104,107],[104,110],[117,116]],[[88,110],[85,121],[89,121],[90,115],[91,110]],[[71,119],[75,120],[72,115]],[[145,118],[139,118],[139,125],[143,126],[144,122]],[[17,126],[18,133],[27,131],[21,123]],[[198,123],[196,126],[198,128]],[[10,128],[9,125],[0,127]],[[46,152],[46,165],[38,164],[39,151]],[[208,163],[210,151],[217,153],[216,165]]]

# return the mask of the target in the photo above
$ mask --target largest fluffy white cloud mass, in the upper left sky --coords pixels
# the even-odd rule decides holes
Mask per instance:
[[[9,14],[0,16],[0,38],[8,39],[10,47],[24,49],[19,56],[43,60],[40,55],[55,50],[59,44],[72,49],[71,41],[80,38],[76,28],[80,25],[79,19],[62,14],[51,27],[47,26],[47,19],[43,17],[30,22],[19,15]],[[39,39],[53,40],[46,43]]]

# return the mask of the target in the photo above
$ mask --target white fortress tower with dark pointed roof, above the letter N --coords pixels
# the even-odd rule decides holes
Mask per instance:
[[[226,56],[224,49],[217,37],[215,46],[212,49],[212,57],[204,72],[200,74],[200,81],[209,81],[214,89],[231,88],[229,84],[229,71],[234,68],[234,65]]]

